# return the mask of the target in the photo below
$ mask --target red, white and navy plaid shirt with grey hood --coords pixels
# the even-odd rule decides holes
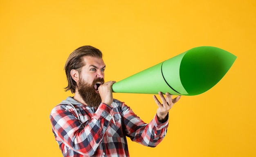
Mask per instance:
[[[50,120],[64,157],[129,157],[126,136],[144,146],[155,147],[166,135],[167,122],[144,123],[124,102],[112,107],[84,106],[67,97],[52,109]]]

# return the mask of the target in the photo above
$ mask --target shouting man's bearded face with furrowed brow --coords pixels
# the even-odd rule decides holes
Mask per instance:
[[[102,58],[86,56],[84,62],[79,74],[78,93],[88,106],[97,107],[101,103],[98,87],[104,83],[106,66]]]

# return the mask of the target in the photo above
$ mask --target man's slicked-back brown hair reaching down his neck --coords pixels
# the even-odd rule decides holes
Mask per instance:
[[[67,62],[65,64],[64,70],[67,76],[68,85],[65,88],[65,91],[71,91],[71,93],[75,93],[76,91],[76,82],[72,79],[70,75],[70,71],[72,69],[77,70],[79,73],[81,72],[81,67],[85,65],[83,57],[91,56],[102,58],[102,53],[99,49],[93,46],[81,46],[75,49],[67,58]]]

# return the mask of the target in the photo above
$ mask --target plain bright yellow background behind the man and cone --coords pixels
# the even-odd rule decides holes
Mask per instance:
[[[182,96],[156,148],[129,139],[131,157],[256,156],[255,0],[1,0],[0,156],[61,157],[49,113],[71,95],[63,67],[77,47],[104,54],[122,80],[196,46],[238,58],[206,93]],[[149,122],[152,95],[115,93]]]

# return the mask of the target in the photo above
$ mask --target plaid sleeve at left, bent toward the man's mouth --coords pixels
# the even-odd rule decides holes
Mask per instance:
[[[110,124],[110,115],[114,114],[112,108],[101,103],[88,125],[84,126],[70,111],[56,107],[50,120],[54,134],[63,144],[77,153],[92,156]]]

